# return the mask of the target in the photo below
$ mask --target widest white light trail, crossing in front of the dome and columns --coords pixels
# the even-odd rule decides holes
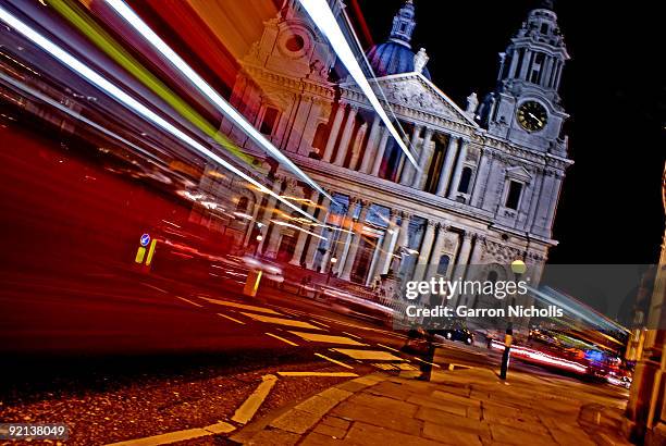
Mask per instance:
[[[395,138],[395,141],[403,150],[403,152],[405,152],[405,156],[407,157],[409,162],[415,166],[417,171],[420,172],[421,169],[419,168],[417,160],[414,158],[414,156],[405,145],[405,141],[403,141],[403,138],[400,138],[400,135],[393,126],[393,123],[391,122],[388,115],[382,108],[382,104],[374,95],[374,91],[372,91],[372,87],[370,87],[370,84],[368,83],[363,71],[361,70],[360,65],[358,64],[358,61],[354,57],[354,52],[351,51],[349,44],[345,39],[345,36],[343,36],[342,29],[337,25],[335,16],[333,15],[333,11],[331,11],[329,4],[325,2],[325,0],[299,1],[312,18],[312,22],[314,22],[314,24],[319,27],[323,35],[329,39],[329,42],[333,47],[333,50],[335,51],[342,63],[347,67],[347,71],[349,72],[351,77],[354,77],[354,80],[356,80],[360,89],[363,90],[363,94],[368,97],[370,104],[380,115],[380,117],[384,122],[384,125],[386,125],[386,128],[388,128],[391,136]]]

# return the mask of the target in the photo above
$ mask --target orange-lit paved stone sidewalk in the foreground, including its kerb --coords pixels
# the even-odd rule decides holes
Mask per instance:
[[[403,373],[403,376],[405,374]],[[431,382],[372,374],[330,387],[231,439],[249,445],[626,445],[622,394],[567,379],[490,370]]]

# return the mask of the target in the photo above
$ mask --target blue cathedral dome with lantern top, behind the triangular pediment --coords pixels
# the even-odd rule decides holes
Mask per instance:
[[[393,17],[393,28],[391,29],[388,40],[384,44],[375,45],[367,53],[374,74],[387,76],[416,71],[430,79],[430,73],[424,66],[428,62],[424,50],[419,51],[418,55],[411,50],[411,33],[415,26],[414,2],[412,0],[407,0]],[[415,61],[417,61],[416,66]]]

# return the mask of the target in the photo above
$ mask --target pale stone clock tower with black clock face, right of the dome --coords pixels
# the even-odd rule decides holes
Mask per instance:
[[[552,1],[530,11],[499,60],[497,87],[481,104],[478,120],[493,136],[565,156],[560,133],[568,114],[558,88],[569,54]]]

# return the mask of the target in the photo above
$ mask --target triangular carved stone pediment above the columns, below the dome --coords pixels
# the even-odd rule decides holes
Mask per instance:
[[[420,110],[477,126],[451,98],[420,73],[400,73],[371,79],[370,85],[378,98],[396,104]],[[347,87],[351,87],[348,85]],[[354,85],[355,89],[358,87]]]

